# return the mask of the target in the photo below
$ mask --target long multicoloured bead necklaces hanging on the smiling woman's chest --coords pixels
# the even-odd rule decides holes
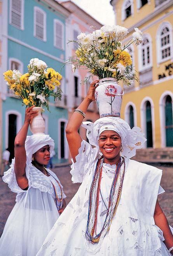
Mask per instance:
[[[102,177],[103,168],[103,157],[101,157],[97,164],[94,172],[93,182],[89,191],[89,209],[88,209],[88,219],[86,227],[86,249],[90,253],[94,254],[100,249],[100,244],[103,242],[107,231],[110,229],[110,224],[116,213],[117,206],[121,197],[122,183],[124,179],[125,161],[124,158],[120,158],[116,166],[114,179],[112,181],[112,186],[110,189],[109,202],[107,208],[107,215],[105,217],[105,222],[100,233],[96,234],[97,228],[97,217],[98,217],[98,206],[99,206],[99,196],[100,196],[100,183]],[[99,243],[98,248],[91,252],[89,248],[89,243]],[[95,247],[94,247],[95,248]]]

